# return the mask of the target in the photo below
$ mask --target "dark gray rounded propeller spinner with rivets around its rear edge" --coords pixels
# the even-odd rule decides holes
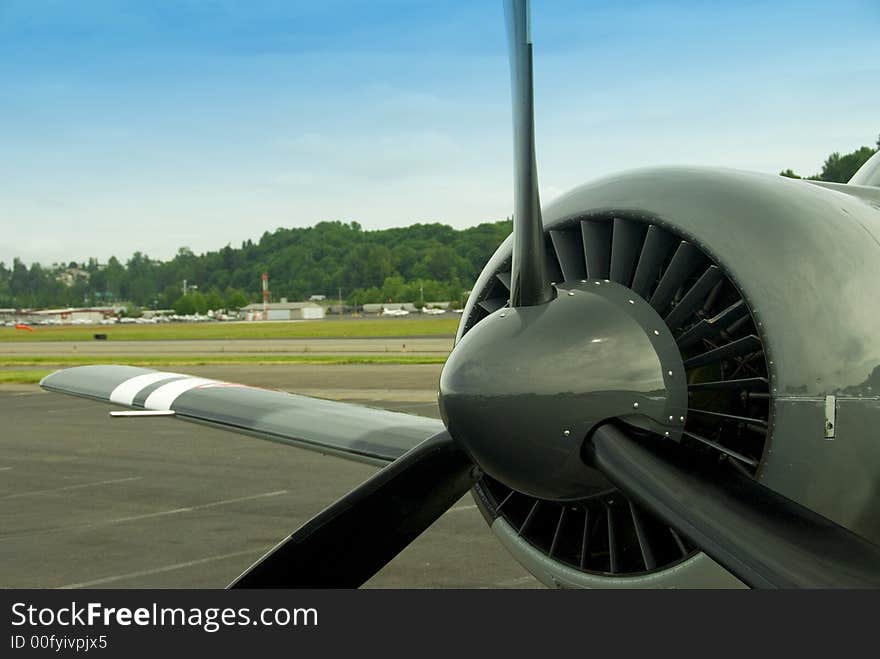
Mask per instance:
[[[590,280],[474,326],[443,368],[440,410],[489,475],[565,501],[610,487],[582,459],[598,424],[617,418],[679,439],[687,383],[675,341],[651,305],[624,286]]]

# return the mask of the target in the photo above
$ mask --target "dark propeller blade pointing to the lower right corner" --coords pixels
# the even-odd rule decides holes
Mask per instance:
[[[628,497],[755,588],[880,586],[880,547],[736,470],[605,424],[590,457]]]

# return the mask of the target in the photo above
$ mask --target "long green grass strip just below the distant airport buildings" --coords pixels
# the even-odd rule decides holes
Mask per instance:
[[[167,325],[98,325],[34,327],[33,332],[0,328],[0,342],[173,341],[181,339],[349,339],[394,336],[453,336],[459,316],[449,318],[391,318],[382,320],[325,320],[271,323],[169,323]]]

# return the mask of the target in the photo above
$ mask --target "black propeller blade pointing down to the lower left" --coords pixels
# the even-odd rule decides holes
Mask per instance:
[[[467,456],[443,431],[306,522],[229,588],[356,588],[473,484]]]

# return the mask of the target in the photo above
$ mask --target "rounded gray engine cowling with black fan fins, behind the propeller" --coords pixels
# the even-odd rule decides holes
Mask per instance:
[[[684,409],[666,419],[666,430],[656,414],[648,416],[653,426],[636,421],[634,428],[671,431],[688,450],[880,542],[874,494],[880,488],[880,442],[872,440],[880,422],[877,206],[777,176],[669,168],[582,186],[543,213],[558,292],[580,294],[603,285],[625,290],[622,313],[651,308],[673,338],[685,371]],[[511,311],[510,259],[508,240],[478,279],[457,342]],[[635,304],[628,310],[629,300]],[[590,311],[584,313],[589,318]],[[560,327],[558,340],[549,338],[553,345],[541,350],[559,350],[560,359],[583,366],[583,377],[563,389],[592,391],[593,357],[584,350],[593,330],[589,322],[576,324]],[[643,328],[648,339],[657,329],[649,325]],[[565,350],[571,352],[566,356]],[[623,352],[616,359],[625,370],[634,356]],[[441,401],[454,389],[449,384]],[[577,426],[576,442],[604,416],[593,407],[586,399],[565,407],[575,416],[568,426],[585,424]],[[500,430],[502,442],[512,432],[489,429]],[[527,443],[520,439],[517,446]],[[627,501],[598,472],[590,473],[583,460],[569,455],[565,463],[589,474],[582,477],[589,487],[578,496],[570,487],[533,486],[523,465],[537,465],[537,454],[510,467],[474,457],[484,471],[474,494],[487,521],[545,583],[739,584],[687,538]],[[556,473],[578,478],[571,471]]]

